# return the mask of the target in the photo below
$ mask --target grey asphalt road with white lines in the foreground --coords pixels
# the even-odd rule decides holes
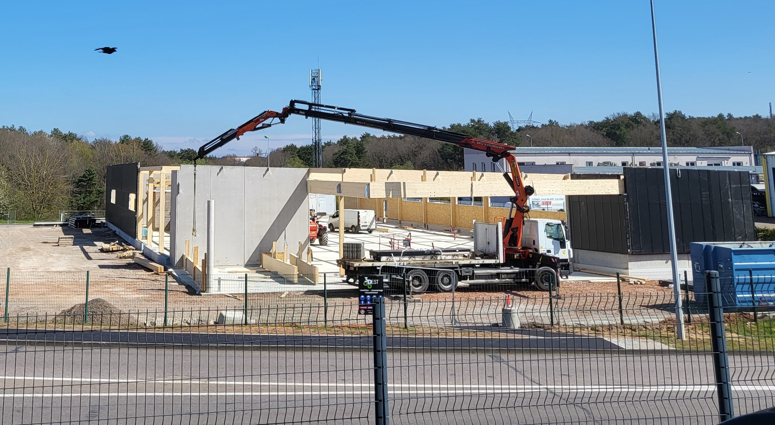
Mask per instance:
[[[6,341],[2,423],[374,423],[372,353]],[[775,365],[732,356],[737,412],[775,400]],[[707,354],[392,348],[392,423],[716,423]]]

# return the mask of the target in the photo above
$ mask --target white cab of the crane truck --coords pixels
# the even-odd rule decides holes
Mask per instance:
[[[554,255],[560,259],[560,271],[573,272],[570,258],[570,235],[564,221],[549,218],[529,218],[522,228],[522,246],[535,252]]]

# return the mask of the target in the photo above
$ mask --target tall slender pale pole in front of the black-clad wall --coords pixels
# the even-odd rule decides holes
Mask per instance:
[[[675,221],[673,219],[673,196],[670,190],[670,162],[667,158],[667,137],[665,136],[665,110],[662,105],[662,78],[660,77],[660,53],[656,49],[656,19],[654,0],[651,2],[651,31],[654,37],[654,65],[656,67],[656,97],[660,101],[660,139],[662,140],[662,169],[665,172],[665,201],[667,201],[667,234],[670,238],[670,263],[673,268],[673,295],[676,307],[676,337],[684,339],[684,311],[680,305],[680,276],[678,275],[678,254],[676,247]],[[688,283],[687,283],[688,285]]]

